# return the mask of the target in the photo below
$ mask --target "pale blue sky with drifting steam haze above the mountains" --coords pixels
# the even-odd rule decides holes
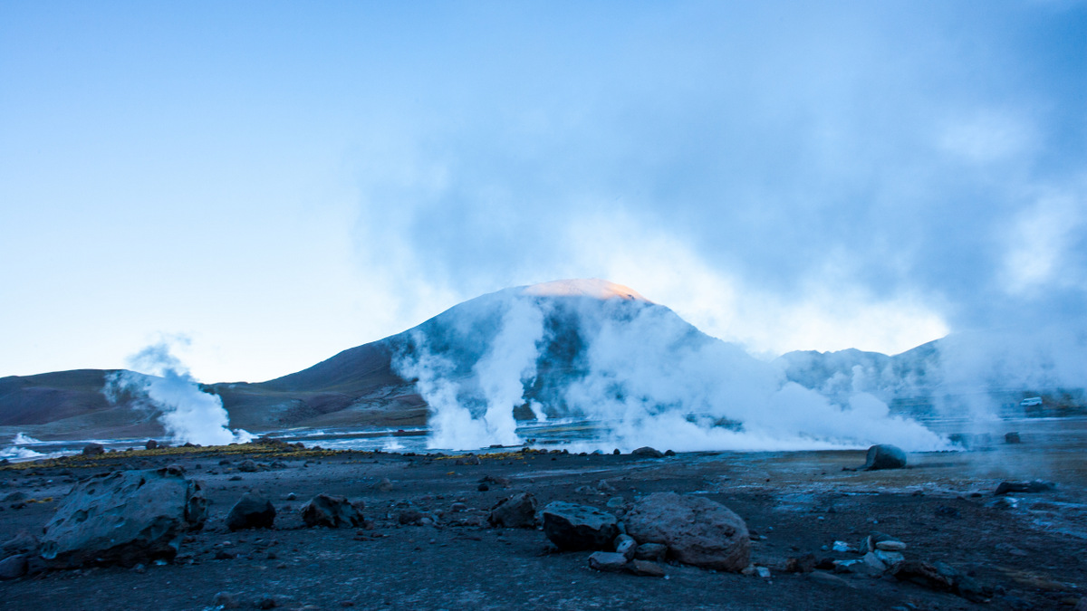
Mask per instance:
[[[760,354],[1087,324],[1087,3],[0,2],[0,376],[602,277]]]

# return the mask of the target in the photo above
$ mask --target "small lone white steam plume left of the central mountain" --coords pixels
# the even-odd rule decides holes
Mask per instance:
[[[129,396],[136,406],[151,410],[172,441],[222,446],[252,439],[246,431],[227,428],[223,400],[200,389],[166,341],[140,350],[128,365],[136,371],[108,375],[102,392],[112,403]]]

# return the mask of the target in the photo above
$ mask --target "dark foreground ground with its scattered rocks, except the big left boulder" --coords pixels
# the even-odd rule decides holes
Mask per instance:
[[[0,467],[0,599],[88,610],[1083,609],[1087,466],[1080,449],[1024,437],[876,471],[855,470],[864,451],[92,449]],[[35,558],[60,540],[70,491],[101,496],[134,470],[178,483],[179,515],[202,527],[178,531],[176,551],[72,556],[67,568]],[[1042,477],[1053,485],[1030,484]],[[664,502],[676,498],[682,508]],[[682,511],[698,518],[677,526]]]

